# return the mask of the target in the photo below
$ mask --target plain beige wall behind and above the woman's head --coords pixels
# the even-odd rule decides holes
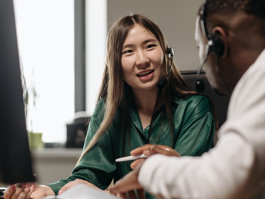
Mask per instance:
[[[194,40],[196,14],[201,0],[109,0],[108,30],[122,16],[139,13],[156,22],[180,70],[197,70],[198,50]]]

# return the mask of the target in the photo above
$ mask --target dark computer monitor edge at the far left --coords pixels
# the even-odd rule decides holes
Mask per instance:
[[[34,181],[12,0],[0,0],[0,140],[0,182]]]

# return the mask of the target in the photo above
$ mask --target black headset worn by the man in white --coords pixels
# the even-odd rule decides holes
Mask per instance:
[[[209,32],[207,31],[207,24],[206,24],[206,17],[207,17],[207,10],[206,10],[206,6],[207,6],[207,1],[205,0],[204,3],[201,5],[201,9],[200,9],[200,24],[201,24],[201,31],[203,32],[203,35],[207,37],[207,44],[205,45],[205,52],[204,52],[204,57],[203,60],[201,61],[201,64],[198,68],[197,71],[197,80],[195,82],[195,88],[196,91],[201,93],[204,92],[205,86],[204,86],[204,82],[201,79],[201,69],[205,63],[205,61],[207,60],[207,57],[210,53],[213,53],[216,55],[216,61],[218,62],[218,58],[222,57],[222,55],[224,54],[225,51],[225,44],[223,42],[223,40],[217,35],[217,34],[213,34],[210,35]],[[218,69],[218,64],[215,64],[215,70],[217,72],[219,72]]]

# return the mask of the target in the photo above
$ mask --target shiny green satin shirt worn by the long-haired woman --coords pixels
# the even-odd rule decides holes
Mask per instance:
[[[103,120],[105,100],[98,101],[89,122],[83,150],[97,131]],[[206,96],[193,95],[187,99],[172,100],[173,134],[169,122],[161,111],[153,122],[150,144],[167,145],[174,148],[181,156],[200,156],[213,145],[215,121],[211,103]],[[129,171],[132,161],[115,162],[115,159],[130,155],[130,151],[148,144],[149,126],[142,128],[138,110],[130,110],[130,146],[127,144],[126,154],[123,149],[123,123],[117,113],[110,129],[100,138],[95,146],[81,159],[68,179],[48,184],[57,194],[62,186],[75,179],[86,180],[101,189],[105,189],[114,178],[119,180]],[[164,122],[162,122],[164,120]],[[129,139],[127,139],[129,140]],[[127,141],[128,143],[128,141]],[[146,198],[151,198],[149,194]]]

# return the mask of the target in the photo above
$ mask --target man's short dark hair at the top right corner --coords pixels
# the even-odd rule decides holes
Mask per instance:
[[[205,9],[207,17],[241,11],[265,20],[265,0],[208,0]]]

